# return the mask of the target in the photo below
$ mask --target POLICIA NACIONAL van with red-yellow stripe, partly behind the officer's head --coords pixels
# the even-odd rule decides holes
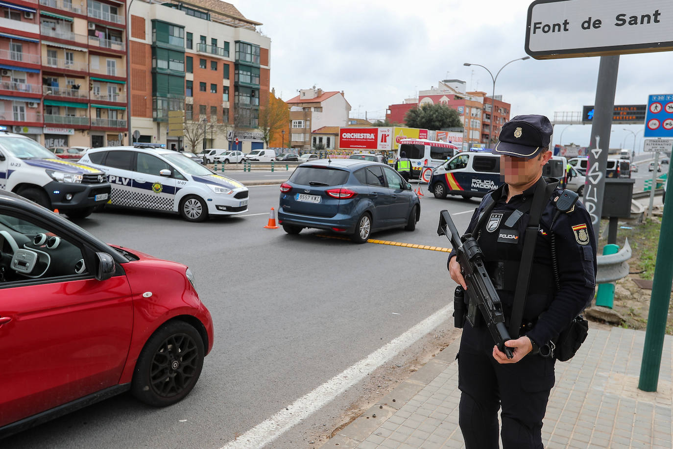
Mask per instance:
[[[565,158],[552,156],[542,169],[543,176],[563,180]],[[500,174],[500,155],[485,151],[464,151],[432,170],[428,190],[435,198],[460,195],[465,199],[483,197],[504,182]]]

